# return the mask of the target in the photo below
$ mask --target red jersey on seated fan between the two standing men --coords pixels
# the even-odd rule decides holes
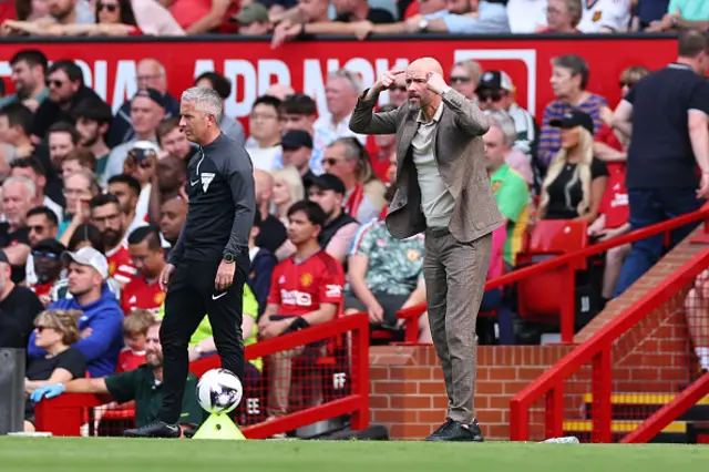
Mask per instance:
[[[342,266],[325,250],[300,261],[291,256],[274,269],[268,302],[279,306],[278,315],[302,316],[321,304],[341,305],[343,286]]]

